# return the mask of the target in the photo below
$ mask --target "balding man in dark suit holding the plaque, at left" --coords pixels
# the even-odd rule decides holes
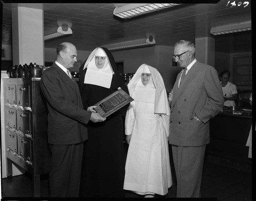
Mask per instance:
[[[89,120],[105,120],[98,113],[83,110],[78,85],[67,71],[77,62],[76,57],[77,51],[73,44],[59,44],[56,61],[42,73],[40,81],[49,111],[51,197],[78,197],[82,142],[88,139],[86,123]]]

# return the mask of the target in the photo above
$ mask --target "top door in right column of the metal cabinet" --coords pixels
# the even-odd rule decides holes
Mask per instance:
[[[17,85],[17,105],[31,108],[30,90],[30,85]]]

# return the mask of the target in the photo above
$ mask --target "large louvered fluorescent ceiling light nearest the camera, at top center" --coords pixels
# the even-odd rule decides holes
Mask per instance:
[[[138,15],[151,13],[177,5],[180,4],[128,4],[119,8],[115,8],[113,14],[121,18],[132,18]]]

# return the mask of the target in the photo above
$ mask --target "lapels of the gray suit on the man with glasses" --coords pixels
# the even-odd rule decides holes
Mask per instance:
[[[173,93],[174,97],[173,97],[172,107],[176,103],[177,99],[182,94],[182,92],[186,89],[189,82],[197,76],[196,71],[197,71],[197,62],[188,70],[188,72],[179,88],[178,88],[178,85],[179,85],[179,79],[180,79],[181,72],[178,74],[177,81],[175,82],[175,85],[174,85],[174,93]]]

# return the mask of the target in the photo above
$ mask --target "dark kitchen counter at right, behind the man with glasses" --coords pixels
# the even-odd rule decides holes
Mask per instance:
[[[210,143],[207,154],[231,161],[251,164],[246,146],[252,124],[251,110],[243,114],[220,112],[210,120]]]

